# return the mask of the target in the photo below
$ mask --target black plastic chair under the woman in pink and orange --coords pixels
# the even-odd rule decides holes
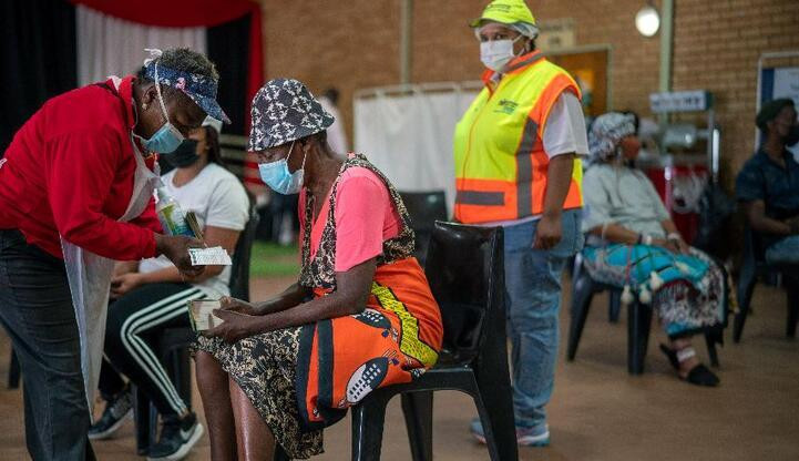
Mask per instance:
[[[493,461],[519,459],[505,340],[501,228],[436,223],[427,277],[441,307],[443,351],[413,382],[378,389],[352,409],[352,453],[379,460],[388,401],[400,395],[412,459],[432,460],[432,392],[469,393]]]

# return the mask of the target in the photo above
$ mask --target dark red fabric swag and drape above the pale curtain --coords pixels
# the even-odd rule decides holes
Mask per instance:
[[[264,80],[260,4],[249,0],[69,0],[114,18],[162,28],[211,28],[249,14],[247,106]],[[249,111],[247,111],[249,119]],[[249,124],[249,120],[247,122]]]

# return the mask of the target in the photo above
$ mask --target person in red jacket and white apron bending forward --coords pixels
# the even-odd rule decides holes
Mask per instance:
[[[93,459],[96,388],[113,260],[165,255],[186,274],[199,242],[162,235],[154,152],[168,155],[216,103],[207,58],[151,50],[145,76],[110,78],[47,101],[0,160],[0,324],[24,377],[34,460]]]

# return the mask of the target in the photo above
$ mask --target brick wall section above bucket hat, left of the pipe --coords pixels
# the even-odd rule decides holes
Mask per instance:
[[[338,88],[351,143],[355,90],[399,81],[399,2],[262,0],[262,11],[266,78]]]

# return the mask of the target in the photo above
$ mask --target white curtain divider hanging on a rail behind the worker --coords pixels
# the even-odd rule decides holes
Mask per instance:
[[[443,189],[454,203],[452,134],[480,82],[361,90],[355,98],[355,151],[399,191]]]

